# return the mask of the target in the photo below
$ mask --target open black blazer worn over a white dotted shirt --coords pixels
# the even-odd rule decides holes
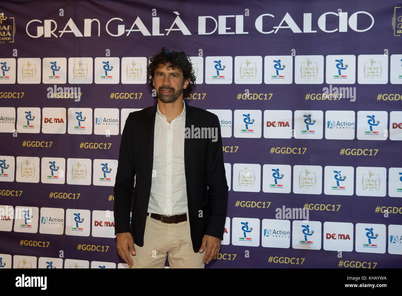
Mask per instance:
[[[131,112],[119,151],[114,187],[115,234],[131,232],[134,243],[144,246],[144,231],[152,186],[156,105]],[[228,207],[222,137],[218,117],[186,103],[186,127],[217,128],[217,141],[184,140],[184,167],[191,241],[198,252],[205,234],[223,239]],[[183,135],[184,137],[184,135]],[[134,188],[135,176],[135,188]],[[133,194],[134,188],[134,194]],[[131,228],[130,207],[132,204]]]

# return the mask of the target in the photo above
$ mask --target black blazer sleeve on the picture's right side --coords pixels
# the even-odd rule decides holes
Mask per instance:
[[[212,128],[217,131],[216,141],[209,140],[207,151],[207,186],[209,216],[205,234],[223,239],[228,210],[228,183],[222,151],[221,127],[214,114]]]

